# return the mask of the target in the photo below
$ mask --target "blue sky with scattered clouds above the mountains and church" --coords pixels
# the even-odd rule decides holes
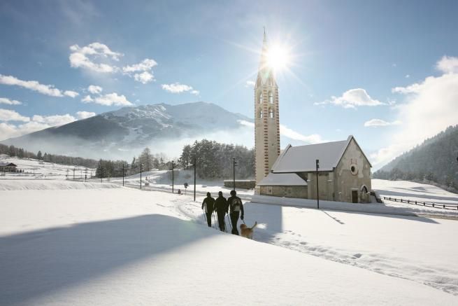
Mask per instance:
[[[129,102],[252,118],[265,26],[293,59],[282,147],[353,134],[378,167],[458,123],[457,15],[457,1],[1,1],[0,139]]]

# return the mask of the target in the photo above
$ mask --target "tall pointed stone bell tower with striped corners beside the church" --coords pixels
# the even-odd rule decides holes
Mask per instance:
[[[280,121],[278,86],[269,66],[269,46],[264,29],[261,61],[255,84],[255,152],[256,183],[266,177],[280,155]]]

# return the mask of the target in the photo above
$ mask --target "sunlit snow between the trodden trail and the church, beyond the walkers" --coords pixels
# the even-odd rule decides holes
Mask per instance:
[[[203,220],[197,204],[180,212]],[[256,229],[257,241],[458,295],[457,221],[255,203],[245,204],[245,216],[248,225],[264,225]]]

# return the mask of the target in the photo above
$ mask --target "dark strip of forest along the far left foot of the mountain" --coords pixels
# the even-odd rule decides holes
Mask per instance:
[[[89,158],[78,158],[74,156],[65,156],[57,155],[50,153],[32,153],[24,150],[23,148],[17,148],[15,146],[6,146],[5,144],[0,144],[0,154],[7,154],[11,157],[17,158],[34,158],[36,160],[43,160],[43,162],[53,162],[59,165],[78,165],[87,168],[95,168],[97,165],[96,160]]]

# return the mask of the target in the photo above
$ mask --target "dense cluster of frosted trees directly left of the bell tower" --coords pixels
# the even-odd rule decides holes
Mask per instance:
[[[255,176],[255,149],[234,144],[220,144],[203,139],[183,147],[180,164],[184,169],[192,167],[196,158],[196,172],[202,179],[229,179],[232,177],[233,157],[236,158],[237,179]]]

